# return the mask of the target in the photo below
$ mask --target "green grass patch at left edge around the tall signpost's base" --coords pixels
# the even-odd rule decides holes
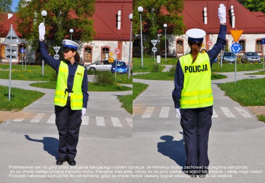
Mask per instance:
[[[3,111],[19,111],[44,95],[42,92],[11,88],[9,102],[8,90],[9,87],[0,86],[0,110]]]

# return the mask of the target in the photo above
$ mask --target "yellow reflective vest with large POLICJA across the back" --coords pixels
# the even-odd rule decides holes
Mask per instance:
[[[180,98],[180,108],[201,108],[213,105],[211,87],[211,66],[207,53],[199,53],[192,64],[192,55],[179,58],[184,74],[183,89]]]

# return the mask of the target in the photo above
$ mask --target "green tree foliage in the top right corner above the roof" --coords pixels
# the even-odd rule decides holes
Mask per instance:
[[[265,1],[261,0],[239,0],[244,7],[248,8],[249,11],[262,11],[265,13]]]

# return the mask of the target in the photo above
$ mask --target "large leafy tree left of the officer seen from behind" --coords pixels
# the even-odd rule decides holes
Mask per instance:
[[[183,16],[184,0],[134,0],[133,1],[133,34],[140,33],[140,14],[137,8],[141,6],[142,30],[149,35],[145,41],[145,47],[152,47],[152,39],[158,39],[159,33],[164,33],[164,24],[167,24],[167,32],[180,35],[184,33],[185,25]],[[164,35],[164,34],[163,34]],[[164,36],[160,37],[165,40]]]

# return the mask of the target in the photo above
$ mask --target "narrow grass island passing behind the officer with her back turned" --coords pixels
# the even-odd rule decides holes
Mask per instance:
[[[157,73],[148,73],[148,74],[137,74],[133,78],[137,79],[151,79],[151,80],[174,80],[174,76],[170,76],[169,72],[157,72]],[[225,75],[221,74],[212,74],[211,79],[223,79],[227,78]]]

